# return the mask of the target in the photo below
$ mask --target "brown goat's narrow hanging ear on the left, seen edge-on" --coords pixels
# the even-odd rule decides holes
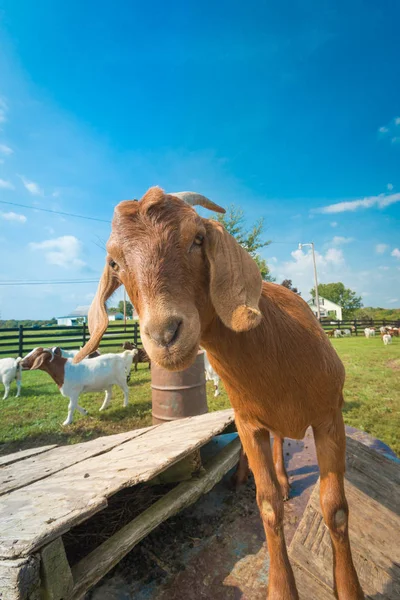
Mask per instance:
[[[99,347],[101,338],[108,327],[106,302],[120,285],[121,282],[113,275],[113,271],[107,262],[97,288],[96,296],[89,309],[88,324],[90,340],[78,352],[72,362],[80,362]]]

